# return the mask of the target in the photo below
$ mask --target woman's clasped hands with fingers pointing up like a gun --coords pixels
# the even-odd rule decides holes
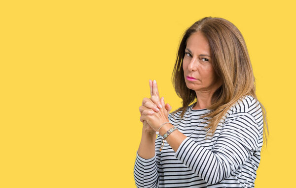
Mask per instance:
[[[142,106],[139,107],[141,117],[140,121],[143,122],[143,129],[149,133],[155,133],[162,123],[168,122],[168,114],[172,107],[164,103],[164,98],[159,99],[159,92],[157,83],[149,80],[150,95],[151,97],[144,98]],[[164,108],[165,109],[164,109]]]

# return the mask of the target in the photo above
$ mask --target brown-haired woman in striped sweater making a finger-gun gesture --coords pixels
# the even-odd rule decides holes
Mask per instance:
[[[222,18],[194,23],[185,31],[172,78],[183,107],[168,114],[171,107],[149,81],[151,97],[139,108],[136,186],[253,188],[267,124],[240,31]]]

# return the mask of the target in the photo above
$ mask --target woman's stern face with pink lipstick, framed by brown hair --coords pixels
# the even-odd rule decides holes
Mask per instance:
[[[216,82],[208,39],[200,31],[187,39],[183,70],[186,86],[196,92],[214,93],[221,85]]]

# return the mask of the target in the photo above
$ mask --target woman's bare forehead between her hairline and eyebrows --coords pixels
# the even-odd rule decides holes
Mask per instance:
[[[206,53],[210,54],[210,44],[208,39],[200,32],[195,32],[189,36],[186,43],[192,53]]]

